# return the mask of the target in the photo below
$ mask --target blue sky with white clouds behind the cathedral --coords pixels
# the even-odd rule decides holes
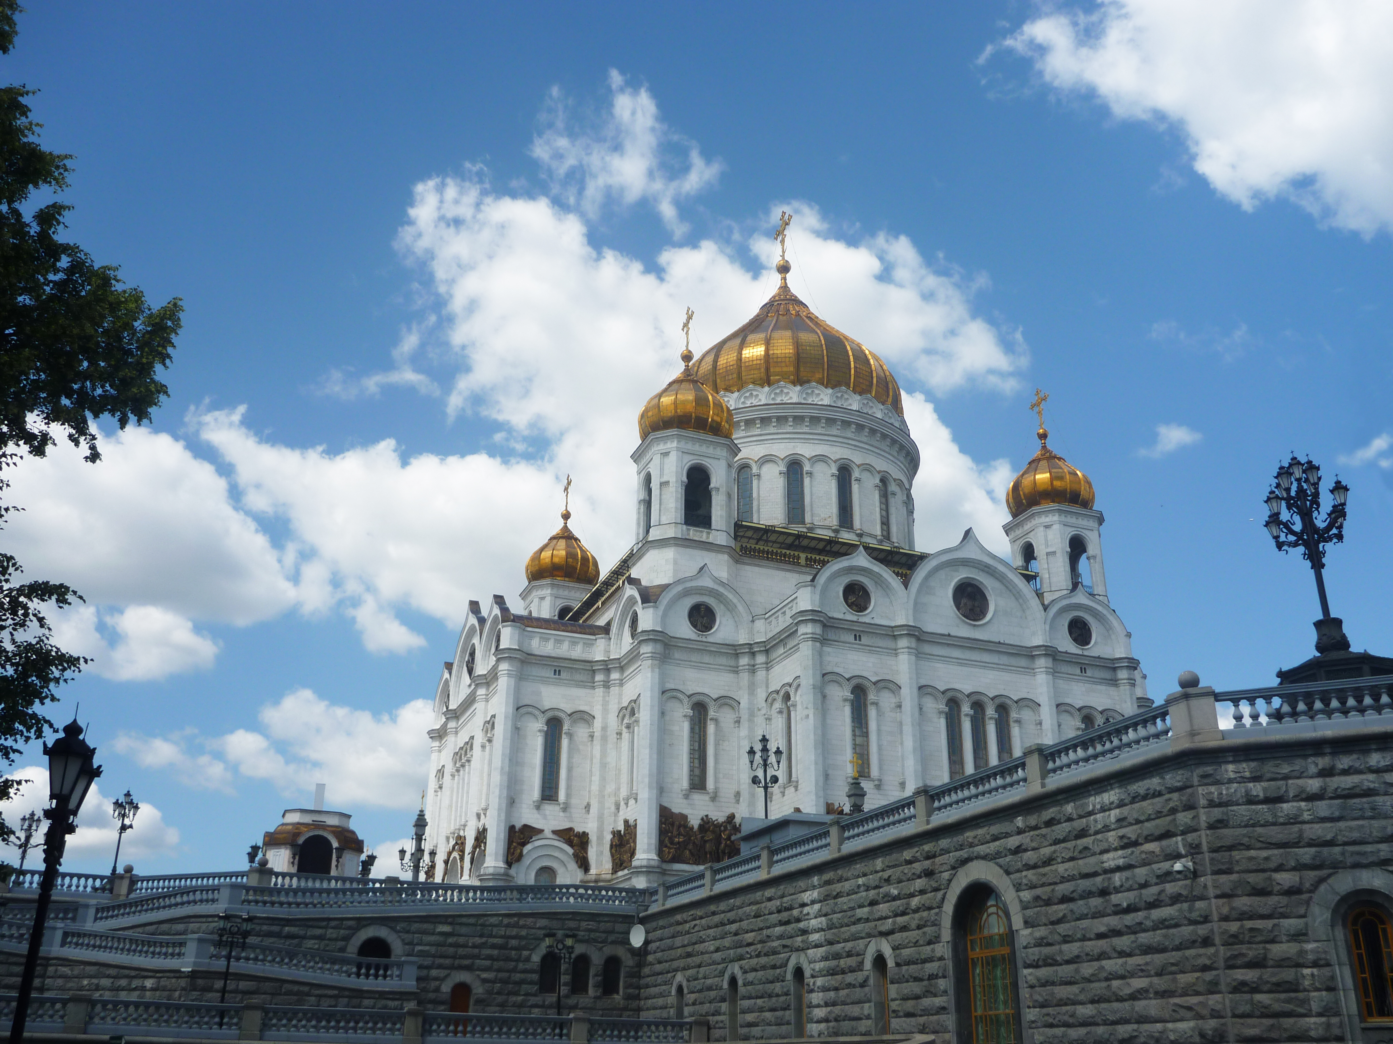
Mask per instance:
[[[568,472],[624,550],[683,308],[748,317],[783,207],[794,288],[918,393],[921,547],[1004,546],[1041,386],[1153,696],[1309,654],[1261,525],[1291,450],[1350,483],[1333,611],[1393,649],[1393,28],[1211,7],[35,6],[4,75],[72,238],[185,303],[155,425],[22,465],[4,537],[88,594],[56,715],[146,803],[132,862],[238,866],[319,781],[396,848],[462,600],[515,599]]]

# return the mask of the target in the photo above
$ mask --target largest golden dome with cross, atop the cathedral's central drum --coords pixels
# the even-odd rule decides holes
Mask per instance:
[[[820,384],[871,395],[904,416],[900,384],[890,367],[865,345],[812,313],[788,290],[790,264],[775,266],[779,290],[755,317],[696,359],[696,379],[716,391]]]

